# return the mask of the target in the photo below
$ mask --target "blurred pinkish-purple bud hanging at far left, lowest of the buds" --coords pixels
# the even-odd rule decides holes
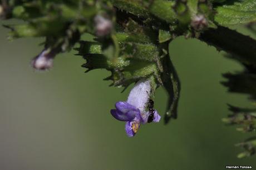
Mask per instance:
[[[55,53],[44,49],[38,56],[32,59],[32,67],[37,70],[50,69],[53,66]]]

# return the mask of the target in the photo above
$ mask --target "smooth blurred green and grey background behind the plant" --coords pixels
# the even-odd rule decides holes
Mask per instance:
[[[1,24],[6,22],[1,22]],[[227,103],[250,106],[248,96],[231,94],[221,73],[242,67],[196,39],[175,39],[171,59],[181,81],[178,119],[142,126],[126,137],[124,122],[110,109],[129,89],[109,87],[104,70],[84,73],[75,51],[56,57],[51,71],[29,65],[43,39],[7,41],[0,28],[0,169],[225,169],[256,167],[255,156],[238,159],[234,144],[248,134],[225,126]],[[248,34],[249,32],[244,32]],[[155,108],[163,116],[166,93],[159,88]]]

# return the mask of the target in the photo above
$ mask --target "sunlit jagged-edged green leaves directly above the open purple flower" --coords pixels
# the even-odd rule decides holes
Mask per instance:
[[[138,40],[137,37],[141,36],[144,38]],[[75,49],[78,55],[86,59],[86,63],[82,65],[87,68],[86,72],[105,68],[112,72],[105,80],[112,80],[111,86],[118,87],[127,87],[141,78],[157,75],[156,58],[160,55],[159,49],[153,43],[145,43],[147,36],[144,31],[137,34],[117,33],[111,37],[96,38],[94,42],[80,41],[80,47]],[[140,41],[142,43],[137,43]],[[120,52],[116,53],[116,48]]]

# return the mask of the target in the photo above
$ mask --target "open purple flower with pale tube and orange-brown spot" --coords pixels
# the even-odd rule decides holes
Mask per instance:
[[[147,118],[151,113],[145,109],[150,91],[150,81],[141,80],[131,89],[127,101],[116,102],[116,109],[110,111],[117,120],[126,121],[125,131],[129,137],[135,136],[140,125],[147,123]],[[155,111],[153,122],[159,122],[160,119],[160,115]]]

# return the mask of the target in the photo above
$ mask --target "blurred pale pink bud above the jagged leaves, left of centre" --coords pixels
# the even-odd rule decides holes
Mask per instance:
[[[94,18],[94,22],[96,25],[96,34],[99,37],[106,36],[110,34],[113,28],[113,24],[108,18],[104,18],[100,15],[97,15]]]

